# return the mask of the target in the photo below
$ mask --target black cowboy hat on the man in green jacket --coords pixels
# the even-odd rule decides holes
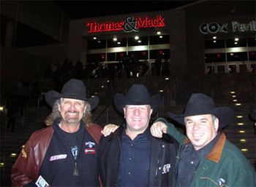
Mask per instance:
[[[219,130],[226,127],[233,118],[234,111],[226,106],[214,107],[214,100],[208,95],[202,93],[192,94],[189,98],[184,114],[173,114],[168,112],[169,116],[176,122],[185,125],[185,116],[196,116],[203,114],[213,114],[219,119]]]

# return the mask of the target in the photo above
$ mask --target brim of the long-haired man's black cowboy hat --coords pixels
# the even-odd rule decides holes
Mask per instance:
[[[59,92],[56,92],[54,90],[50,90],[45,93],[45,100],[48,103],[49,106],[53,107],[53,104],[56,102],[56,100],[59,100],[60,98],[71,98],[71,99],[78,99],[78,100],[86,100],[89,105],[91,106],[91,111],[93,111],[97,106],[99,105],[99,97],[97,95],[94,95],[91,98],[78,98],[76,95],[72,97],[72,95],[61,95]]]

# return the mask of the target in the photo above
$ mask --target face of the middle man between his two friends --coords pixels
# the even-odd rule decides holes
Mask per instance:
[[[125,106],[124,118],[127,121],[127,130],[135,132],[136,135],[144,132],[148,127],[151,114],[152,109],[149,105]]]

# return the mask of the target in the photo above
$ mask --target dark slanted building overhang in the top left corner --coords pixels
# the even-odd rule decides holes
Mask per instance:
[[[58,41],[68,38],[69,15],[51,1],[1,1],[1,15],[29,25]]]

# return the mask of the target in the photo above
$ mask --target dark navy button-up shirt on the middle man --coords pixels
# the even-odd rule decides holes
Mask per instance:
[[[149,129],[134,140],[131,140],[125,131],[122,133],[118,187],[148,186],[150,151]]]

